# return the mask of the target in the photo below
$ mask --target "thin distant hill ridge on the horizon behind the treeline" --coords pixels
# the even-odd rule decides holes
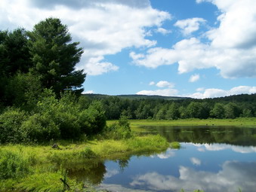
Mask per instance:
[[[104,99],[107,97],[111,97],[109,95],[94,94],[94,93],[85,94],[85,96],[88,96],[91,99]],[[146,96],[146,95],[118,95],[114,97],[119,97],[122,99],[165,99],[165,100],[191,99],[189,97],[180,97],[180,96]]]

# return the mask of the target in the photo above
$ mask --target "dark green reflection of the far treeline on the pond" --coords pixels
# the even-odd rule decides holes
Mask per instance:
[[[226,143],[256,145],[256,129],[232,126],[149,126],[168,142]]]

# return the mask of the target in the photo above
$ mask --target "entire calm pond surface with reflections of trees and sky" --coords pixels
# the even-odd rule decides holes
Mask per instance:
[[[256,191],[256,129],[150,126],[147,130],[182,147],[94,162],[73,175],[111,191]]]

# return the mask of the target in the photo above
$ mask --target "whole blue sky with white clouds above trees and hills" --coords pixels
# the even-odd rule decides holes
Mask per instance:
[[[84,93],[256,93],[255,0],[1,0],[0,30],[57,17],[84,53]]]

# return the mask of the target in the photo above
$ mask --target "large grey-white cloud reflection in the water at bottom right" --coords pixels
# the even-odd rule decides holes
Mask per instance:
[[[196,171],[185,166],[180,166],[180,177],[160,175],[157,172],[148,172],[137,175],[130,184],[133,187],[147,187],[149,190],[195,190],[201,189],[208,192],[242,191],[253,192],[256,188],[256,162],[241,163],[227,161],[219,172]]]

